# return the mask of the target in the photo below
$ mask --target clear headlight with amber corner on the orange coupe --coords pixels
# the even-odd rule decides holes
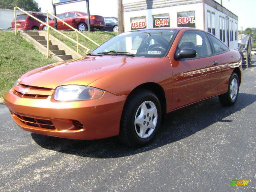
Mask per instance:
[[[81,101],[98,99],[104,91],[88,86],[65,85],[57,87],[54,93],[56,101]]]

